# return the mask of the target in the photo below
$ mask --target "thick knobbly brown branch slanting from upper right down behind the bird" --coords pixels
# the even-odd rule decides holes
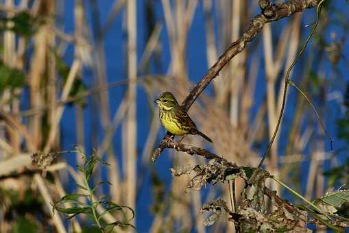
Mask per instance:
[[[202,77],[201,81],[191,90],[189,95],[184,99],[182,103],[182,108],[186,111],[189,110],[191,105],[194,103],[195,99],[202,93],[204,88],[219,74],[219,71],[223,69],[224,66],[245,49],[248,42],[251,42],[259,32],[261,32],[265,23],[272,21],[278,21],[279,19],[291,16],[296,12],[302,12],[307,8],[313,8],[320,0],[290,0],[285,3],[276,3],[272,5],[266,4],[265,9],[261,14],[254,17],[249,23],[248,29],[245,30],[239,40],[232,42],[230,47],[220,56],[215,64],[208,70],[206,75]],[[267,14],[266,14],[267,12]],[[160,143],[160,146],[152,156],[153,161],[158,158],[165,147],[161,147],[165,140],[168,140],[169,134],[167,133]],[[155,160],[154,160],[155,159]]]

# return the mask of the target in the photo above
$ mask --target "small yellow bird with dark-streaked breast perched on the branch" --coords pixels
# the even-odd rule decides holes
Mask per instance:
[[[168,91],[162,93],[158,99],[154,100],[154,102],[158,104],[158,108],[160,109],[160,122],[163,124],[165,129],[171,134],[183,136],[178,143],[180,143],[187,134],[199,134],[210,143],[213,143],[208,136],[197,130],[194,121],[186,111],[182,109],[172,93]]]

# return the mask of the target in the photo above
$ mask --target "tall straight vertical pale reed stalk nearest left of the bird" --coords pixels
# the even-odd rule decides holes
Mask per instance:
[[[136,120],[136,79],[137,79],[137,53],[136,53],[136,39],[137,39],[137,25],[136,25],[136,1],[128,0],[127,2],[127,32],[128,32],[128,92],[126,94],[126,101],[128,110],[125,117],[125,138],[123,146],[125,147],[125,193],[126,204],[131,208],[136,208],[136,164],[137,164],[137,120]],[[132,223],[135,223],[132,219]]]

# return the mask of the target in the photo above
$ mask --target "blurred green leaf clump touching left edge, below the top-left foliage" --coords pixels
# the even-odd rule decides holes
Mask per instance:
[[[13,69],[0,62],[0,93],[10,88],[20,88],[25,85],[25,75],[18,69]]]

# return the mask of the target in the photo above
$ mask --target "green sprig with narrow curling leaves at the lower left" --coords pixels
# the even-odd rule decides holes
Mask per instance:
[[[95,197],[95,191],[101,184],[109,184],[108,181],[98,182],[93,188],[90,187],[93,171],[95,166],[98,163],[109,165],[104,162],[98,156],[92,155],[90,158],[87,158],[82,151],[79,151],[84,158],[84,164],[82,166],[77,166],[77,170],[82,173],[84,177],[83,184],[77,184],[77,187],[82,189],[82,193],[73,193],[64,195],[56,204],[53,204],[53,210],[58,210],[64,214],[68,214],[68,219],[71,219],[78,214],[87,214],[91,217],[97,224],[101,232],[111,232],[115,226],[120,228],[128,228],[134,226],[128,223],[134,218],[134,210],[128,206],[121,206],[115,204],[114,202],[108,200],[108,197],[101,196]],[[87,199],[87,201],[84,201]],[[69,205],[65,205],[69,204]],[[97,206],[102,206],[105,210],[101,214],[97,213]],[[132,213],[131,219],[125,219],[125,210],[128,210]],[[102,218],[105,214],[119,212],[123,215],[124,221],[115,221],[113,223],[104,223]]]

